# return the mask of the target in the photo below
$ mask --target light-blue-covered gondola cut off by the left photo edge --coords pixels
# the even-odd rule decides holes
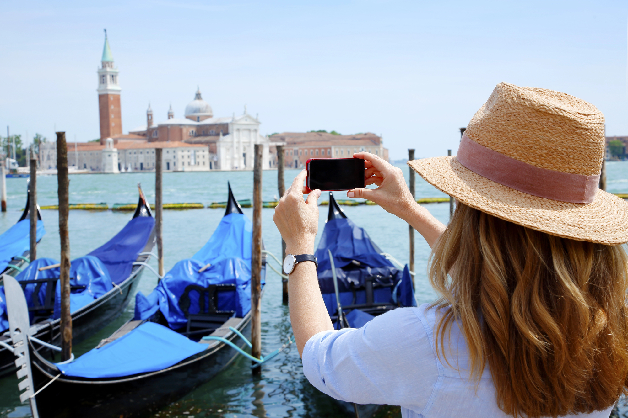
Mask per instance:
[[[13,227],[0,235],[0,274],[8,274],[15,277],[23,270],[24,265],[30,261],[30,191],[30,181],[28,181],[26,207],[24,207],[22,216],[19,217],[18,222]],[[46,230],[41,220],[39,205],[37,205],[37,242],[40,242],[44,235],[46,235]],[[0,324],[0,328],[3,328],[2,324]]]

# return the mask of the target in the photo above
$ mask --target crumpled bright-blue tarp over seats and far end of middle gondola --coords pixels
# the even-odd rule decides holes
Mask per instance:
[[[179,299],[190,284],[236,284],[235,292],[219,292],[217,308],[236,311],[242,318],[251,310],[251,243],[251,221],[241,213],[226,215],[197,254],[176,263],[148,296],[136,294],[135,319],[148,319],[159,309],[173,330],[185,326],[187,319]],[[212,265],[199,273],[206,264]],[[198,297],[198,292],[190,292],[190,313],[198,313]]]

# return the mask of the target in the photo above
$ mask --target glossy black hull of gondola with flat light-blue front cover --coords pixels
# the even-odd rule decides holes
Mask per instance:
[[[244,335],[251,332],[250,313],[242,320],[239,331]],[[235,334],[229,340],[241,348],[244,347],[244,341]],[[72,377],[59,378],[37,395],[40,417],[99,418],[151,415],[213,378],[236,356],[236,350],[220,343],[173,367],[160,372],[121,378],[122,382],[92,379],[68,382]],[[58,372],[38,362],[36,358],[31,359],[35,387],[39,389]],[[111,380],[115,379],[109,379]],[[59,399],[66,399],[67,402],[59,402]]]

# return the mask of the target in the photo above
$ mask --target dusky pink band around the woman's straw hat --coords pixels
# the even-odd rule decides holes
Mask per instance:
[[[546,199],[591,203],[600,183],[600,174],[585,176],[532,166],[480,145],[466,135],[462,136],[456,158],[465,168],[495,183]]]

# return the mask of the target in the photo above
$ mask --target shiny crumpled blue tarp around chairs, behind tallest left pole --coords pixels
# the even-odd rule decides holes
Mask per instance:
[[[36,259],[15,278],[17,281],[24,281],[53,279],[59,277],[59,267],[39,271],[40,267],[57,263],[58,261],[54,259]],[[70,285],[85,286],[85,289],[82,289],[81,291],[74,291],[70,293],[70,312],[77,311],[85,305],[92,303],[95,299],[106,294],[113,287],[107,267],[105,267],[99,259],[91,255],[85,255],[85,257],[79,257],[78,259],[72,261],[72,264],[70,265]],[[33,297],[38,298],[38,304],[43,304],[45,301],[46,287],[48,287],[48,283],[42,284],[38,294],[34,295],[33,292],[35,292],[36,286],[36,283],[30,283],[27,284],[26,289],[24,289],[26,304],[28,304],[29,307],[34,306]],[[60,281],[57,281],[57,288],[55,289],[55,309],[51,318],[58,319],[60,316],[61,283]],[[33,321],[33,312],[30,313],[30,318],[31,321]],[[8,318],[6,317],[6,304],[4,303],[4,286],[0,286],[0,327],[2,327],[3,330],[9,327]]]

